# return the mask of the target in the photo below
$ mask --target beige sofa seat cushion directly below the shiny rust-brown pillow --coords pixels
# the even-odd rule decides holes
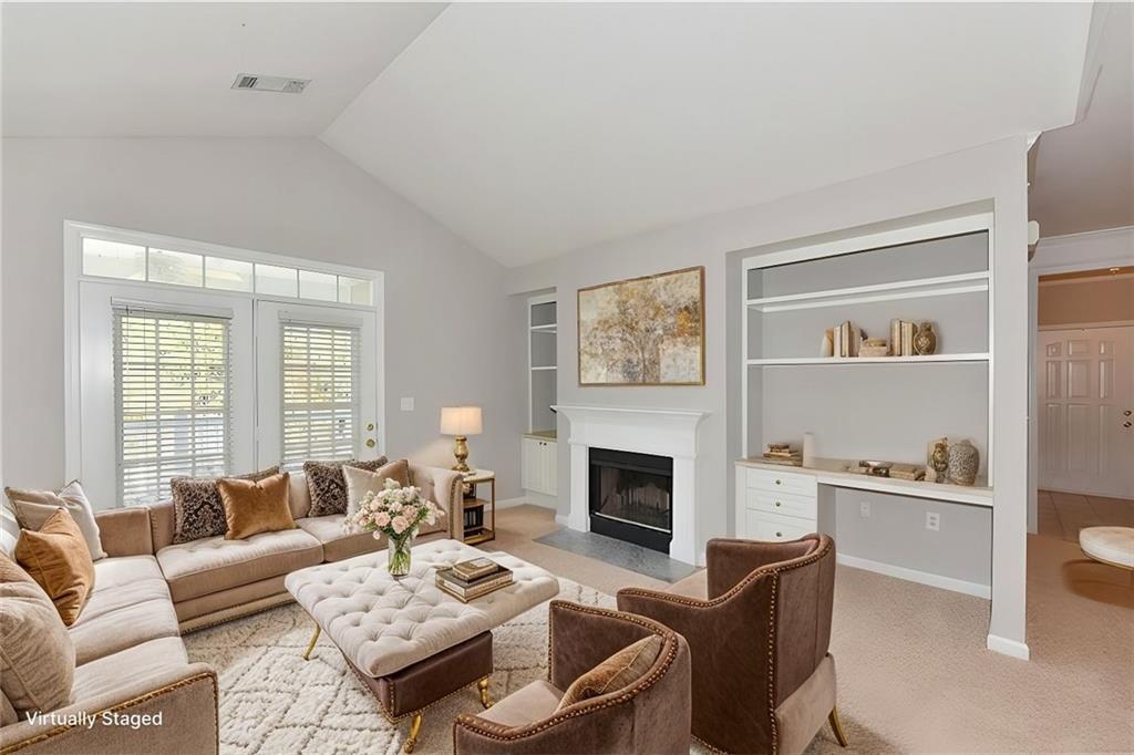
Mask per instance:
[[[252,535],[247,540],[206,537],[158,551],[158,563],[175,601],[314,566],[323,546],[303,529]]]

